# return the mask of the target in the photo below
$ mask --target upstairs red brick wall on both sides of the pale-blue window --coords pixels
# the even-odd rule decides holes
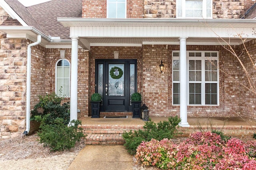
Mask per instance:
[[[144,0],[127,0],[126,18],[143,18]],[[107,0],[83,0],[82,18],[107,18]]]

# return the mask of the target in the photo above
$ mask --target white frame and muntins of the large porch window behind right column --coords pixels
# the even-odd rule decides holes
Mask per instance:
[[[172,87],[174,83],[180,83],[180,81],[174,81],[173,80],[173,61],[174,60],[180,60],[180,57],[173,57],[173,53],[180,53],[180,51],[172,51]],[[188,54],[190,52],[200,52],[202,53],[202,57],[188,57]],[[217,57],[205,57],[205,53],[217,53]],[[201,69],[201,77],[202,80],[200,82],[197,81],[191,81],[191,83],[201,83],[201,104],[189,104],[189,60],[201,60],[202,61],[202,69]],[[187,69],[187,103],[188,106],[219,106],[220,105],[220,82],[219,82],[219,69],[217,66],[217,81],[206,81],[205,80],[205,61],[206,60],[216,60],[217,65],[219,63],[219,52],[218,51],[186,51],[186,69]],[[181,76],[181,75],[180,75]],[[210,105],[210,104],[205,104],[205,84],[206,83],[217,83],[217,104],[216,105]],[[180,104],[173,104],[173,88],[172,88],[172,105],[174,106],[180,106]]]

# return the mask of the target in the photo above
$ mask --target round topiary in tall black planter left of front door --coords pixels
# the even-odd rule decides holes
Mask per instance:
[[[98,93],[92,94],[91,102],[90,102],[92,118],[100,117],[100,102],[101,102],[101,95]]]

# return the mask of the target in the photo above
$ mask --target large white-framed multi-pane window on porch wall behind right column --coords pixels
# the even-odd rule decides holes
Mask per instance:
[[[180,56],[172,53],[172,101],[180,104]],[[218,105],[218,52],[187,51],[189,105]]]

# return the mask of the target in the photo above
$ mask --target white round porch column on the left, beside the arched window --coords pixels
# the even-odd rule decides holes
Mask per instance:
[[[77,120],[78,86],[78,37],[72,37],[71,80],[70,80],[70,121]]]

